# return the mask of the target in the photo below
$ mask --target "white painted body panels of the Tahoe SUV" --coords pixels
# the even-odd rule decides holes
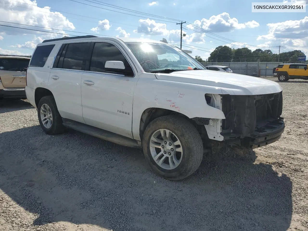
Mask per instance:
[[[52,68],[55,56],[63,43],[81,41],[108,42],[117,46],[131,65],[135,73],[134,77]],[[28,68],[26,94],[30,103],[35,106],[34,89],[44,87],[53,93],[62,117],[139,141],[141,140],[139,129],[142,113],[152,107],[164,108],[180,112],[188,118],[211,118],[212,124],[206,126],[209,137],[223,140],[220,132],[225,115],[221,111],[219,95],[257,95],[282,91],[280,85],[273,81],[219,71],[147,73],[124,41],[144,40],[87,38],[39,44],[38,46],[55,44],[55,47],[44,67]],[[162,43],[153,40],[144,42]],[[59,79],[52,79],[51,76],[58,76]],[[83,81],[94,84],[85,84]],[[206,103],[205,94],[213,94],[215,102],[211,106]]]

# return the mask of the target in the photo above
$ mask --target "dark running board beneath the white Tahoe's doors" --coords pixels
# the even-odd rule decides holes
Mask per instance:
[[[100,128],[95,128],[93,126],[83,124],[83,123],[80,123],[74,120],[69,120],[69,119],[64,119],[64,118],[62,118],[62,120],[63,120],[64,127],[71,128],[76,131],[83,132],[88,135],[110,141],[115,144],[120,144],[120,145],[131,147],[131,148],[141,148],[141,145],[138,144],[137,140],[133,140],[131,138],[121,136],[113,132],[108,132]]]

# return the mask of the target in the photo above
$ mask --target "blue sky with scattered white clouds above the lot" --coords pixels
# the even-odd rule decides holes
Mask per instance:
[[[266,2],[282,1],[296,3],[298,0]],[[191,50],[192,56],[198,55],[204,60],[220,45],[248,47],[251,50],[270,49],[273,53],[278,53],[278,46],[281,45],[280,52],[296,49],[308,57],[308,11],[252,13],[252,1],[247,0],[1,2],[0,54],[31,55],[38,43],[45,39],[61,38],[65,34],[154,40],[165,38],[168,43],[178,45],[180,25],[176,23],[183,21],[186,22],[183,24],[186,36],[183,37],[182,49]]]

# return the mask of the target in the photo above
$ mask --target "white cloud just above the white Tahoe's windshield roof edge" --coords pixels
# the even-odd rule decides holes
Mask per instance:
[[[144,33],[146,35],[168,35],[169,31],[166,27],[167,25],[165,23],[158,23],[149,18],[140,19],[137,30],[134,30],[133,32]]]

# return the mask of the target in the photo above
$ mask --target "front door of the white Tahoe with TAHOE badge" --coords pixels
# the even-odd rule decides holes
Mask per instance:
[[[139,77],[132,61],[117,43],[93,42],[90,52],[81,82],[83,119],[88,125],[132,138],[133,95]],[[108,71],[106,61],[122,61],[125,69]]]

